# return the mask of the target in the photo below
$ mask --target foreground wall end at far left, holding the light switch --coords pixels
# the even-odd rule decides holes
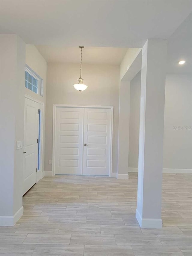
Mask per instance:
[[[23,214],[25,43],[0,35],[0,226],[13,226]],[[21,144],[22,144],[21,143]]]

